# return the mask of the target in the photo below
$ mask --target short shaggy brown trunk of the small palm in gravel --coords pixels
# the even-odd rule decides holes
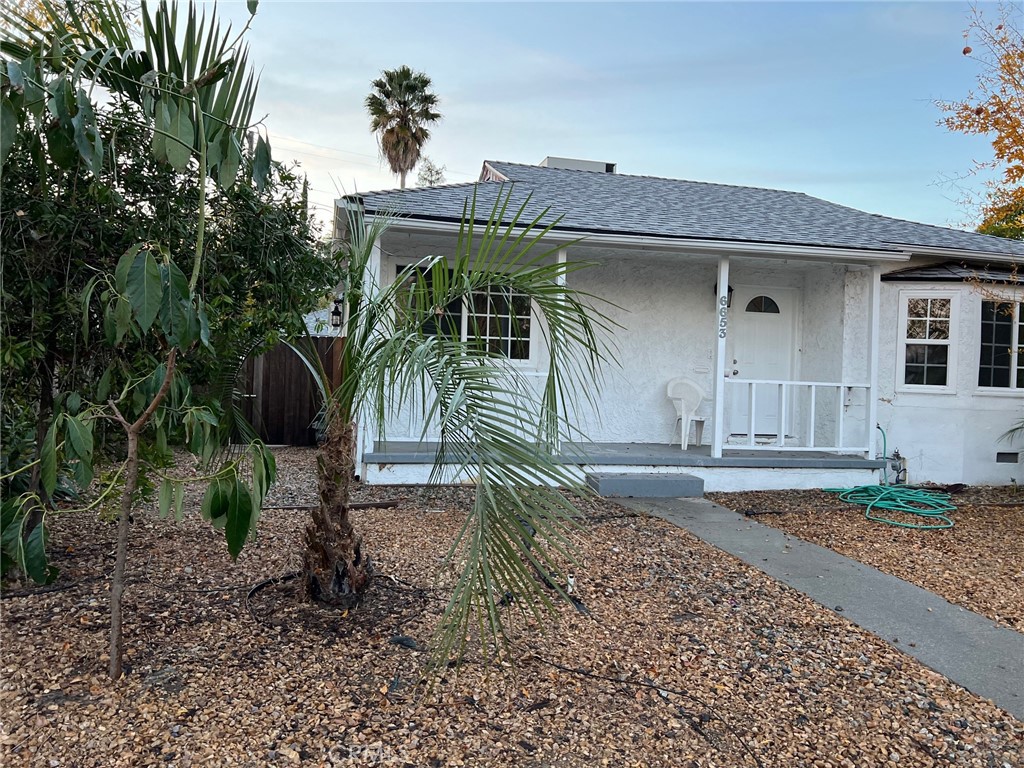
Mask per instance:
[[[356,605],[370,586],[373,563],[348,517],[355,469],[355,433],[347,419],[332,418],[316,457],[319,506],[306,525],[304,571],[312,600],[343,608]]]

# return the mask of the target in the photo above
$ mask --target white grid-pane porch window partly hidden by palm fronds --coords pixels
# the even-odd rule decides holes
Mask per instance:
[[[399,267],[399,279],[408,267]],[[451,270],[449,274],[451,275]],[[430,285],[430,273],[426,272]],[[528,360],[531,350],[531,303],[528,296],[508,287],[474,292],[468,301],[457,299],[438,307],[424,324],[423,333],[475,341],[487,351],[513,360]]]

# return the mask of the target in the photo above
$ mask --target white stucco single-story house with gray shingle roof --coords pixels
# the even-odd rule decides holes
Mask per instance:
[[[611,302],[606,313],[622,326],[620,367],[605,371],[596,408],[573,415],[587,441],[563,446],[564,461],[595,484],[633,476],[708,490],[849,486],[883,471],[893,478],[884,451],[903,457],[900,478],[910,482],[1024,482],[1024,445],[1000,441],[1024,417],[1024,285],[1015,272],[1024,243],[799,193],[558,158],[485,162],[482,216],[509,184],[530,212],[563,217],[553,245],[582,238],[558,258],[593,263],[571,285]],[[473,189],[369,193],[337,205],[398,214],[375,265],[388,282],[454,250]],[[536,325],[522,327],[536,335]],[[538,340],[510,341],[513,364],[543,375]],[[681,425],[667,395],[677,378],[705,395]],[[430,426],[396,404],[385,434],[360,428],[362,477],[425,480]]]

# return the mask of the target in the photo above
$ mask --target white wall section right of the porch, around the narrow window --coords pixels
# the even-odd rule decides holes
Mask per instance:
[[[958,293],[951,392],[900,390],[900,291],[908,290]],[[999,440],[1024,415],[1024,392],[992,392],[978,387],[982,300],[977,288],[961,283],[882,283],[878,418],[886,430],[889,454],[898,450],[906,458],[911,483],[1007,484],[1011,478],[1024,482],[1024,465],[995,462],[997,452],[1021,452],[1024,456],[1020,442],[1011,445]],[[880,453],[881,449],[880,438]]]

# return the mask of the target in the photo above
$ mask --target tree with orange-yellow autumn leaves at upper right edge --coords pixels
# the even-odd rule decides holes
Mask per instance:
[[[994,18],[975,5],[964,32],[964,55],[981,67],[977,87],[961,101],[936,102],[950,131],[992,137],[993,157],[975,170],[994,169],[981,205],[978,231],[1024,240],[1024,35],[1019,8],[1000,3]]]

